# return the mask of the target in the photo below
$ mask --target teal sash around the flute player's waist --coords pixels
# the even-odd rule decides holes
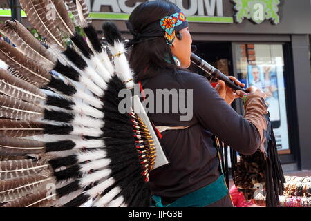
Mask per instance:
[[[153,195],[153,200],[156,202],[154,207],[204,207],[218,200],[221,200],[229,193],[223,175],[218,179],[201,188],[197,191],[184,195],[182,198],[172,202],[171,204],[163,205],[162,198],[158,195]]]

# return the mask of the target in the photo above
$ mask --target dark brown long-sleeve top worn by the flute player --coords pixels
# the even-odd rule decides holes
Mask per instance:
[[[164,69],[156,77],[143,80],[142,86],[144,90],[148,88],[153,91],[155,100],[160,96],[156,94],[156,89],[193,90],[191,120],[180,121],[180,116],[186,115],[180,111],[149,113],[155,126],[193,125],[186,129],[162,132],[162,147],[170,164],[151,171],[149,181],[154,195],[176,200],[217,180],[220,176],[219,160],[211,140],[213,134],[245,155],[254,153],[261,144],[254,124],[238,115],[205,77],[182,70],[176,74],[173,70]],[[182,99],[187,104],[187,92]],[[170,110],[172,105],[177,105],[172,103],[170,97]],[[155,104],[154,110],[156,107]]]

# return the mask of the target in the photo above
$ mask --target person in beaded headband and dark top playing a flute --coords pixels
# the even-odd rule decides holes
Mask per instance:
[[[182,113],[149,113],[155,126],[167,126],[161,141],[170,162],[151,171],[154,206],[233,206],[218,171],[212,137],[243,155],[262,148],[267,126],[265,93],[254,86],[247,88],[248,94],[234,92],[224,81],[213,88],[205,77],[189,73],[192,40],[187,18],[169,1],[142,3],[126,24],[133,35],[128,46],[135,82],[152,90],[155,100],[157,89],[193,90],[189,121],[180,121]],[[245,86],[235,77],[229,78]],[[238,97],[244,101],[244,117],[230,106]]]

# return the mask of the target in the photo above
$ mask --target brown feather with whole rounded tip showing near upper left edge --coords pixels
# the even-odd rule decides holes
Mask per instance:
[[[35,37],[19,21],[6,21],[0,26],[0,31],[6,35],[23,54],[35,61],[53,67],[57,61]]]

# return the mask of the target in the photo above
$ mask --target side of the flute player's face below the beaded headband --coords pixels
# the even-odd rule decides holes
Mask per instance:
[[[182,39],[175,38],[171,46],[171,52],[180,60],[182,68],[189,68],[192,44],[189,28],[183,28],[179,32],[182,35]]]

